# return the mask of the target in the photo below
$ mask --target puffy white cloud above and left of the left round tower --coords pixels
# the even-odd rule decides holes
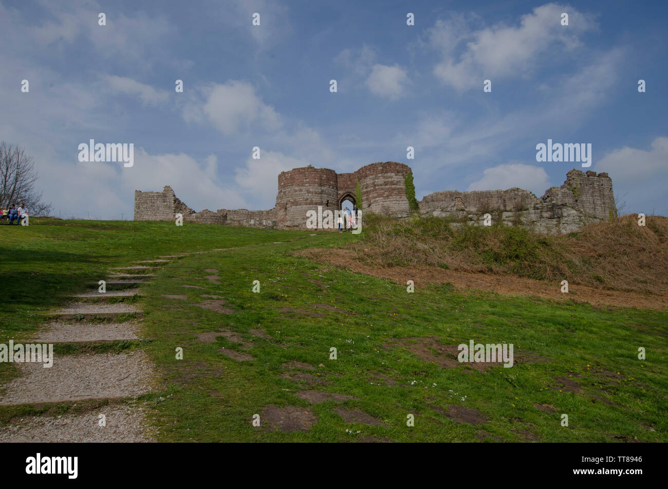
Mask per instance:
[[[230,80],[224,85],[202,88],[200,92],[205,100],[193,100],[186,105],[183,112],[186,122],[211,122],[225,135],[256,124],[266,130],[281,127],[281,119],[274,108],[262,102],[250,84]]]

